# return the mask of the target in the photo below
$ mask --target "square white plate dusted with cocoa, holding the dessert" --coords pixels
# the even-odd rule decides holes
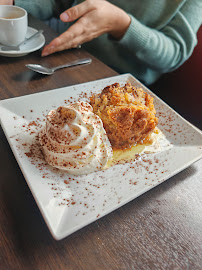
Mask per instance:
[[[89,101],[92,93],[100,93],[115,82],[141,86],[154,97],[158,127],[169,147],[83,176],[71,176],[47,165],[37,141],[46,114],[70,102]],[[130,74],[2,100],[0,120],[36,203],[57,240],[130,202],[202,157],[202,133]]]

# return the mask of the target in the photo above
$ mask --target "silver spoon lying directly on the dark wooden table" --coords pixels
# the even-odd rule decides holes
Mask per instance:
[[[47,67],[37,65],[37,64],[27,64],[26,67],[41,74],[51,75],[56,70],[61,69],[61,68],[73,67],[73,66],[83,65],[83,64],[90,64],[91,62],[92,62],[91,58],[85,58],[85,59],[80,59],[77,61],[69,62],[67,64],[57,66],[57,67],[52,67],[52,68],[47,68]]]

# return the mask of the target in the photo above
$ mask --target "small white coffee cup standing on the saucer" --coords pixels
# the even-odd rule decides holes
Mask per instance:
[[[0,43],[16,46],[25,40],[27,11],[12,5],[0,5]]]

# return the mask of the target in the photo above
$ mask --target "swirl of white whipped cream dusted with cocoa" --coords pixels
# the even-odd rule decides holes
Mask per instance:
[[[39,141],[46,161],[73,175],[102,170],[112,158],[102,120],[84,101],[51,110]]]

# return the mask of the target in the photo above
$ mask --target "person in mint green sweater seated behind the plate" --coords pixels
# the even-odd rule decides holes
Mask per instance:
[[[69,8],[70,2],[15,0],[40,19],[63,12],[64,27],[75,22],[44,47],[42,56],[83,44],[115,70],[151,84],[182,65],[197,44],[202,0],[86,0]]]

